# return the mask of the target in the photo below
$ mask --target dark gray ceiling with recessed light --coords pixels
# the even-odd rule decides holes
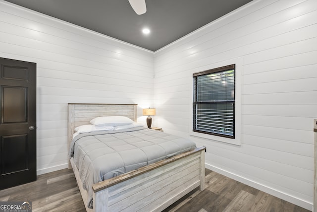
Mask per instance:
[[[252,0],[146,0],[142,15],[128,0],[6,1],[156,51]]]

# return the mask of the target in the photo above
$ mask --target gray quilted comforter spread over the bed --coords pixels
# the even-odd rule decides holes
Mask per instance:
[[[80,134],[71,142],[69,156],[79,169],[92,208],[93,184],[195,147],[193,141],[137,127]]]

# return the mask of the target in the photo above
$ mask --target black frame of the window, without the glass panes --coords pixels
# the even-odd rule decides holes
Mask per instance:
[[[236,112],[235,112],[235,104],[236,104],[236,70],[235,70],[236,66],[235,64],[232,65],[228,65],[228,66],[223,66],[223,67],[219,67],[219,68],[215,68],[215,69],[211,69],[211,70],[207,70],[207,71],[200,71],[200,72],[196,72],[193,73],[193,80],[194,80],[194,92],[193,92],[193,132],[198,132],[198,133],[203,133],[203,134],[210,134],[210,135],[214,135],[214,136],[220,136],[220,137],[225,137],[225,138],[229,138],[229,139],[235,139],[235,118],[236,118]],[[233,100],[223,100],[223,101],[197,101],[197,78],[198,76],[202,76],[202,75],[207,75],[207,74],[211,74],[211,73],[217,73],[217,72],[222,72],[222,71],[229,71],[229,70],[234,70],[234,97]],[[204,131],[202,129],[197,129],[196,125],[197,125],[197,105],[198,104],[233,104],[233,135],[226,135],[226,134],[222,134],[222,133],[215,133],[215,132],[210,132],[210,131]]]

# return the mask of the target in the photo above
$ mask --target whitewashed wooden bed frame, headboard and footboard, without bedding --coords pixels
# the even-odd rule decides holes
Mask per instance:
[[[75,127],[89,124],[98,116],[126,116],[137,121],[137,105],[69,103],[68,147]],[[89,212],[160,212],[193,189],[205,189],[205,147],[94,184],[93,210],[87,207],[88,192],[83,189],[73,158],[69,168],[73,168]]]

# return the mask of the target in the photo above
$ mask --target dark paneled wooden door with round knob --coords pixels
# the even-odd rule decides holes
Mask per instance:
[[[0,58],[0,189],[36,180],[36,64]]]

